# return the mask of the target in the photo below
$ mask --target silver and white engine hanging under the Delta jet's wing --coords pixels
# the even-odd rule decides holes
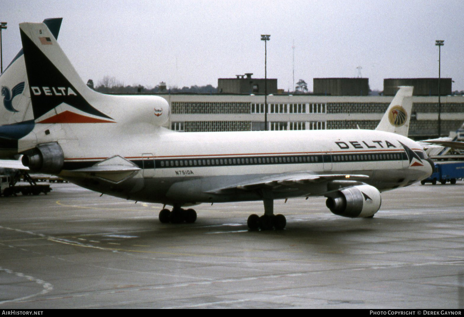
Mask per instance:
[[[371,185],[347,187],[326,197],[330,211],[349,218],[374,216],[382,203],[380,191]]]

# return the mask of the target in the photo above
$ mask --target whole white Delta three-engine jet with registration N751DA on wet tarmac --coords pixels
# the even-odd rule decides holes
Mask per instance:
[[[104,194],[173,206],[161,222],[194,222],[198,203],[264,202],[251,229],[284,228],[275,199],[325,196],[340,216],[371,217],[380,191],[427,178],[432,165],[403,136],[412,87],[401,87],[376,130],[178,133],[157,96],[102,95],[79,78],[44,24],[20,24],[32,130],[18,139],[31,171]],[[12,83],[13,85],[13,83]],[[399,133],[399,134],[396,134]],[[403,135],[401,135],[403,134]]]

